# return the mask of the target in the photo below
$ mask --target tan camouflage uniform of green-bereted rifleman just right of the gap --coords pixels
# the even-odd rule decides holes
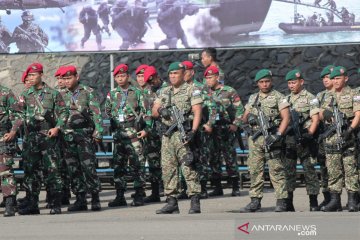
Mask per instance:
[[[276,90],[271,90],[265,94],[259,91],[259,93],[252,94],[249,98],[249,102],[246,104],[245,109],[250,113],[258,115],[255,108],[256,102],[261,103],[262,111],[267,117],[273,120],[275,126],[279,126],[281,122],[280,111],[289,106],[286,98],[283,94]],[[259,127],[254,126],[254,131],[258,131]],[[281,142],[274,143],[270,148],[270,154],[266,154],[264,150],[264,137],[261,135],[255,141],[251,136],[248,138],[249,145],[249,157],[248,166],[250,171],[250,191],[251,198],[262,198],[264,187],[264,168],[265,161],[269,166],[270,180],[275,188],[276,199],[286,199],[288,197],[286,189],[286,173],[285,165],[281,159]]]

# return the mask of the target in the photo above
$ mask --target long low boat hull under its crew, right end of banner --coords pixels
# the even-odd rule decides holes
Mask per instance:
[[[333,23],[331,26],[304,26],[297,23],[280,23],[279,28],[288,34],[307,34],[307,33],[324,33],[324,32],[353,32],[360,31],[360,22],[353,25],[345,25],[344,23]]]

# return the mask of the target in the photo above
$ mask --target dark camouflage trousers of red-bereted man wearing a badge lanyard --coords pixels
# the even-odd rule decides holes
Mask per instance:
[[[134,188],[145,187],[144,155],[142,143],[135,128],[117,129],[114,135],[114,154],[111,162],[114,168],[116,189],[126,190],[126,175],[134,179]]]

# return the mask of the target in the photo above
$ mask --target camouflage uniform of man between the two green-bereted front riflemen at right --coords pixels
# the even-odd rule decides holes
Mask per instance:
[[[301,90],[298,94],[291,93],[287,96],[293,110],[299,113],[300,131],[302,133],[307,132],[307,129],[311,125],[311,117],[319,113],[319,101],[315,96],[305,89]],[[315,141],[309,141],[306,139],[300,143],[296,142],[293,133],[286,136],[286,155],[285,162],[287,164],[288,174],[288,191],[293,192],[296,188],[296,164],[297,159],[300,159],[301,164],[304,167],[306,191],[308,195],[319,194],[319,181],[314,168],[314,161],[311,156],[311,146],[316,144]]]

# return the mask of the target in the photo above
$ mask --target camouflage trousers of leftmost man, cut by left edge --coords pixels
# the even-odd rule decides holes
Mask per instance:
[[[5,133],[0,132],[0,136]],[[12,173],[15,150],[15,142],[4,142],[0,139],[0,183],[4,197],[16,195],[16,181]]]

